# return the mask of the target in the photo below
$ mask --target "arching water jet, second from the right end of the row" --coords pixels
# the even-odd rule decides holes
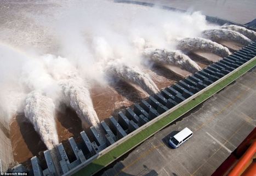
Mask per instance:
[[[252,40],[248,39],[243,34],[226,29],[205,30],[202,32],[202,34],[204,37],[213,41],[229,40],[240,43],[242,45],[248,45],[252,43]]]

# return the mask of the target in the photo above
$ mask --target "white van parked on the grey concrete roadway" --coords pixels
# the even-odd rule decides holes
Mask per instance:
[[[193,132],[186,127],[177,134],[175,134],[172,138],[170,138],[169,145],[176,149],[187,139],[191,138],[192,135]]]

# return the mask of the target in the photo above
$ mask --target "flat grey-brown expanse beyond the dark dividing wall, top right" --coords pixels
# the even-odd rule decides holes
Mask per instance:
[[[167,5],[169,7],[202,11],[204,15],[217,16],[226,20],[246,24],[256,17],[256,1],[254,0],[133,0],[140,2]],[[242,14],[242,15],[241,15]]]

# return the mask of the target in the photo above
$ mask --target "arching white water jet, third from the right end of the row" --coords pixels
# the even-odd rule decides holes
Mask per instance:
[[[203,50],[213,52],[221,57],[226,57],[231,54],[229,49],[227,49],[225,46],[201,37],[184,38],[179,41],[177,47],[183,51]]]

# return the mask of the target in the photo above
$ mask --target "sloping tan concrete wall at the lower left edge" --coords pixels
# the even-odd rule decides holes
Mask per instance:
[[[13,162],[12,143],[10,141],[10,128],[8,116],[0,107],[0,160],[2,171],[7,171],[9,163]]]

